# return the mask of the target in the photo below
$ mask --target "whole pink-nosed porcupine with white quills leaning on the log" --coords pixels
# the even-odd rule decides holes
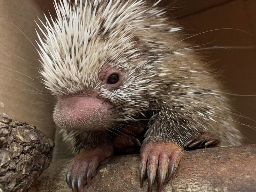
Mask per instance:
[[[58,99],[53,119],[78,154],[67,173],[73,192],[116,146],[142,142],[140,187],[147,177],[152,191],[157,178],[159,192],[184,147],[241,144],[221,86],[159,2],[55,1],[56,19],[40,28],[41,74]]]

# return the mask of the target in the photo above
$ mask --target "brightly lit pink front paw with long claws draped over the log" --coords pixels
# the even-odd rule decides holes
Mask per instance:
[[[154,180],[157,180],[157,192],[160,192],[163,183],[171,179],[173,172],[180,162],[182,148],[175,143],[147,143],[141,150],[140,161],[140,188],[148,178],[148,192],[152,191]]]

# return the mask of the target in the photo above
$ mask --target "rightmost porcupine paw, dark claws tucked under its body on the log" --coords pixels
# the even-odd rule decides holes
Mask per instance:
[[[210,132],[204,132],[198,134],[191,139],[189,139],[184,147],[187,148],[198,148],[198,147],[213,147],[220,143],[220,139],[212,136]]]

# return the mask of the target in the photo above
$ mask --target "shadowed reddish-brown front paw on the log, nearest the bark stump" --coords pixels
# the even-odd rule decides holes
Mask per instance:
[[[84,150],[76,155],[69,166],[66,176],[67,184],[73,192],[82,192],[86,184],[90,185],[101,161],[113,154],[113,147]]]

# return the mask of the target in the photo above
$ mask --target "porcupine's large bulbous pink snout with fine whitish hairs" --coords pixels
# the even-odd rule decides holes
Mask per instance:
[[[111,105],[97,96],[72,95],[58,100],[54,122],[66,130],[104,130],[110,126]]]

